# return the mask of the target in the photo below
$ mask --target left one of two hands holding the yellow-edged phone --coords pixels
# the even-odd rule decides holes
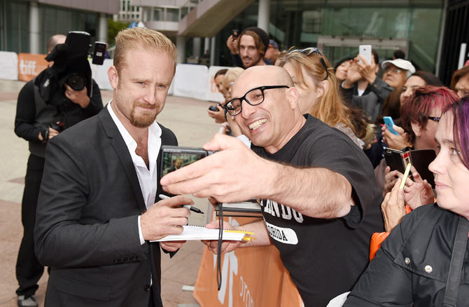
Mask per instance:
[[[399,189],[401,179],[398,178],[391,192],[386,193],[383,203],[381,203],[381,212],[384,218],[384,229],[389,232],[400,223],[405,215],[404,191]]]

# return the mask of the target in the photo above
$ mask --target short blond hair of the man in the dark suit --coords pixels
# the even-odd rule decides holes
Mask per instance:
[[[174,43],[165,34],[152,29],[135,27],[124,29],[116,36],[116,51],[114,53],[114,66],[118,73],[125,66],[125,53],[134,48],[144,48],[167,53],[174,62],[178,62],[178,51]]]

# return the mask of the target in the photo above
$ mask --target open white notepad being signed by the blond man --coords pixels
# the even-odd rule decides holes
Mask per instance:
[[[186,225],[183,226],[183,228],[183,232],[180,235],[169,235],[155,241],[218,240],[218,229],[209,229],[203,226],[193,225]],[[223,240],[241,241],[244,236],[246,236],[246,233],[243,231],[227,229],[223,231]]]

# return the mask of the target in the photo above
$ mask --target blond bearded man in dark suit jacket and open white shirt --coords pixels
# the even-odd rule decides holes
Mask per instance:
[[[51,266],[45,306],[162,306],[160,247],[182,232],[190,198],[156,198],[158,152],[177,145],[155,121],[176,68],[176,47],[160,32],[125,29],[109,68],[113,100],[50,140],[34,233]]]

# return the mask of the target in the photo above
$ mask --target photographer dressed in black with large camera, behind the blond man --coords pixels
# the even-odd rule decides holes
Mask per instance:
[[[48,41],[48,57],[52,50],[55,51],[56,46],[64,46],[65,41],[64,35],[52,36]],[[87,63],[86,56],[81,60],[77,62],[83,64],[86,61]],[[87,65],[89,68],[89,64]],[[45,93],[41,93],[41,85],[45,82],[54,82],[55,79],[49,79],[49,76],[57,71],[57,67],[64,67],[59,57],[54,62],[50,61],[48,69],[26,83],[18,95],[15,133],[29,142],[30,151],[22,198],[22,224],[25,231],[16,264],[16,277],[20,285],[16,290],[18,306],[37,306],[34,293],[38,289],[37,282],[44,271],[44,266],[39,263],[34,254],[33,229],[45,162],[45,146],[49,139],[58,135],[62,130],[94,116],[103,109],[101,92],[94,80],[92,80],[92,86],[84,86],[82,90],[73,90],[66,83],[63,87],[51,85],[50,88],[55,91],[51,90],[48,93],[50,100],[45,100]],[[59,100],[55,99],[57,95],[61,97]]]

